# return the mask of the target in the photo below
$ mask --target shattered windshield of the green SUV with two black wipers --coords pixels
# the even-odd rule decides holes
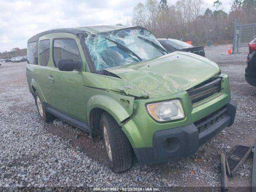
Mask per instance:
[[[97,71],[166,54],[158,40],[143,28],[89,34],[85,42]]]

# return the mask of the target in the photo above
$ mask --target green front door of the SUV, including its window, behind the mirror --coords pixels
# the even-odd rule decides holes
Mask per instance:
[[[58,35],[58,38],[53,38],[52,44],[52,59],[56,66],[50,74],[54,78],[52,106],[60,112],[84,122],[86,104],[82,92],[82,65],[80,69],[74,71],[60,71],[57,68],[60,59],[72,59],[82,63],[78,49],[79,42],[76,42],[74,38],[60,38]]]

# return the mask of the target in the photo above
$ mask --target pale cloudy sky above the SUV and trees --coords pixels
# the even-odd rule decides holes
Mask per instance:
[[[26,48],[28,38],[53,28],[127,24],[138,2],[145,0],[0,0],[0,52]],[[230,1],[222,4],[228,12]]]

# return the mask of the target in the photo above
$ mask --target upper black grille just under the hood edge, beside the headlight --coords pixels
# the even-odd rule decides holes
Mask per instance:
[[[221,82],[221,77],[210,78],[209,80],[187,90],[192,104],[220,92]]]

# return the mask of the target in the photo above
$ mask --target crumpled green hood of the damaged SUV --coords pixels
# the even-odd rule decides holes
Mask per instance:
[[[220,71],[216,63],[187,52],[173,52],[152,60],[105,70],[142,89],[148,98],[188,90]],[[121,89],[125,91],[133,87]]]

